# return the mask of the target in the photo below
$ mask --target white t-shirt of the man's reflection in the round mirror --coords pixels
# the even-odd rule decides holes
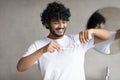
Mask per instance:
[[[109,40],[95,44],[94,49],[104,54],[110,54],[110,45],[114,42],[115,35],[116,32],[111,32],[111,38]]]

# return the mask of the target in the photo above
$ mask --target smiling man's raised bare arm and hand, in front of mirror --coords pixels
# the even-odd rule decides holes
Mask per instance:
[[[94,35],[94,44],[105,41],[110,38],[110,32],[104,29],[88,29],[80,32],[80,42],[86,43],[89,35]]]

